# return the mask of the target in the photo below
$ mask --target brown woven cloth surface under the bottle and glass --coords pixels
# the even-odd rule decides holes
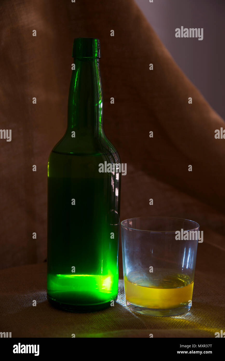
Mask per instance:
[[[202,245],[200,245],[202,246]],[[225,297],[220,278],[224,252],[210,258],[211,244],[204,244],[205,267],[196,270],[191,310],[181,316],[151,317],[132,313],[125,305],[123,279],[119,280],[114,306],[90,313],[53,308],[46,297],[46,263],[0,271],[1,329],[12,337],[215,337],[224,329]],[[207,256],[208,255],[208,256]],[[208,257],[208,259],[207,259]],[[211,272],[211,267],[215,271]],[[220,292],[221,291],[221,292]],[[33,301],[36,300],[36,306]]]

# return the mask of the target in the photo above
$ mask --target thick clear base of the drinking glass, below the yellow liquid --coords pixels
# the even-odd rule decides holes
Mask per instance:
[[[156,317],[178,316],[178,315],[188,312],[191,308],[191,306],[189,306],[188,304],[177,307],[177,308],[171,308],[171,309],[141,307],[141,306],[137,306],[137,305],[132,305],[128,301],[126,301],[126,304],[127,304],[127,307],[132,312],[140,313],[140,314],[146,315],[146,316],[156,316]]]

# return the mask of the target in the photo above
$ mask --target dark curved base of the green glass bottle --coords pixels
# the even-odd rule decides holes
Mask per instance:
[[[114,299],[114,302],[116,302],[117,297]],[[98,304],[98,305],[68,305],[66,303],[61,303],[61,302],[57,302],[55,300],[53,300],[52,298],[50,298],[47,294],[47,300],[48,302],[55,308],[64,310],[64,311],[69,311],[69,312],[76,312],[76,313],[84,313],[84,312],[95,312],[95,311],[100,311],[100,310],[104,310],[105,308],[110,307],[111,305],[111,301],[106,302],[106,303],[102,303],[102,304]]]

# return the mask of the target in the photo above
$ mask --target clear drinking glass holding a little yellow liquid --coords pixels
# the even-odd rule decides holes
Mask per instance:
[[[121,222],[126,305],[150,316],[176,316],[192,305],[199,224],[172,217]]]

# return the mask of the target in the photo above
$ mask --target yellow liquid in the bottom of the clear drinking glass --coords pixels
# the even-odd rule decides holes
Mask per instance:
[[[164,273],[164,272],[163,272]],[[136,275],[135,275],[136,274]],[[194,281],[185,274],[164,273],[161,278],[141,275],[136,272],[124,277],[127,302],[140,307],[171,309],[185,306],[192,299]],[[128,280],[129,279],[129,280]],[[137,283],[131,282],[136,280]]]

